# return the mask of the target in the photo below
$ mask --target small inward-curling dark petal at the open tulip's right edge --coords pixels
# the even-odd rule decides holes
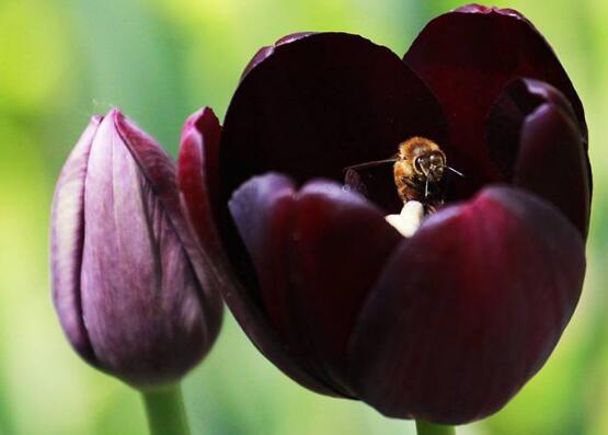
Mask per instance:
[[[505,178],[553,203],[586,238],[589,161],[562,93],[543,82],[516,80],[493,104],[486,128],[490,152]]]

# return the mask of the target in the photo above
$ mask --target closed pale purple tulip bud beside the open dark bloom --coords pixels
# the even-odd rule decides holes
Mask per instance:
[[[50,236],[57,313],[88,363],[147,388],[210,348],[221,301],[202,285],[174,163],[117,110],[92,118],[64,165]]]

